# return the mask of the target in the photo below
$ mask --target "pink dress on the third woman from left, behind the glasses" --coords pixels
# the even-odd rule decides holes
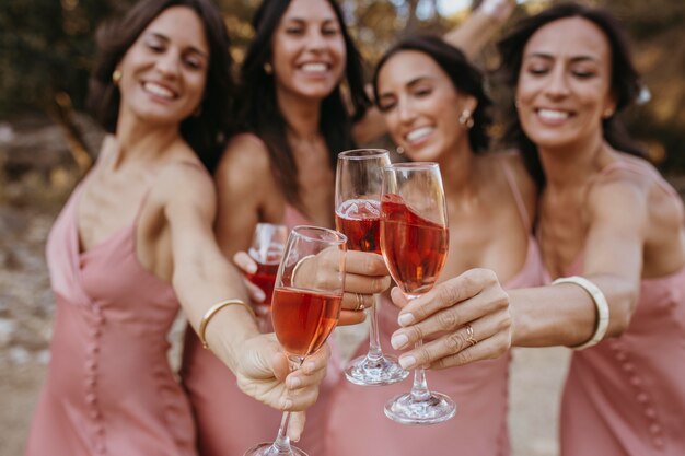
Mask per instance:
[[[516,200],[526,232],[530,218],[515,182],[508,168],[507,177]],[[527,255],[508,289],[539,285],[543,265],[535,238],[527,239]],[[398,309],[384,301],[379,312],[379,331],[383,351],[398,355],[385,347],[398,328]],[[362,355],[368,341],[356,355]],[[506,456],[510,454],[507,429],[508,381],[510,355],[496,360],[441,371],[428,371],[428,387],[446,394],[457,404],[456,416],[444,423],[405,425],[387,419],[385,402],[395,395],[409,391],[413,375],[395,385],[357,386],[342,378],[330,406],[326,456]]]

